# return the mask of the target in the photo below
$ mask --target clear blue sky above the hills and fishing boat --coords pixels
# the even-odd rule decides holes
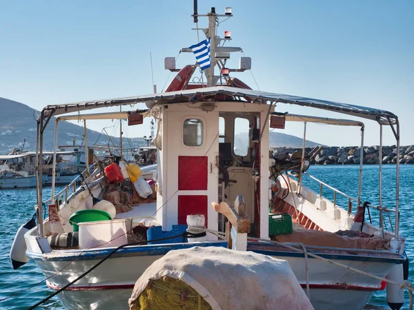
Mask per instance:
[[[400,117],[402,145],[414,143],[414,1],[199,0],[199,14],[212,6],[217,12],[233,8],[219,34],[231,30],[230,45],[252,57],[260,90],[390,110]],[[0,96],[41,110],[148,94],[150,52],[160,91],[169,76],[164,57],[197,43],[192,11],[193,0],[0,0]],[[205,25],[200,18],[199,26]],[[239,56],[233,54],[229,67]],[[194,62],[192,54],[181,54],[177,66]],[[250,72],[235,76],[257,88]],[[335,115],[282,104],[277,110]],[[378,125],[365,123],[366,145],[379,143]],[[100,131],[106,124],[89,127]],[[289,124],[284,132],[302,136],[302,126]],[[149,125],[128,130],[128,136],[144,134]],[[358,130],[343,127],[309,125],[308,138],[359,143]],[[389,128],[384,143],[394,143]]]

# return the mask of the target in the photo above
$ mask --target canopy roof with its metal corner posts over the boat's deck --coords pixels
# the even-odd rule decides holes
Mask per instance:
[[[347,114],[351,116],[357,116],[361,118],[370,119],[371,121],[376,121],[382,125],[390,125],[391,130],[397,141],[397,158],[399,158],[400,152],[400,123],[398,117],[392,112],[385,110],[379,110],[371,107],[362,107],[359,105],[350,105],[347,103],[337,103],[335,101],[325,101],[319,99],[311,99],[301,96],[291,96],[286,94],[277,94],[273,92],[261,92],[256,90],[246,90],[236,87],[228,86],[215,86],[215,87],[204,87],[194,90],[182,90],[178,92],[164,92],[159,94],[147,94],[142,96],[131,96],[117,99],[103,99],[95,101],[81,101],[77,103],[64,103],[59,105],[48,105],[43,108],[39,119],[37,120],[37,205],[39,206],[39,232],[43,236],[43,208],[42,206],[42,185],[41,185],[41,171],[42,171],[42,161],[41,156],[43,154],[43,132],[46,129],[52,116],[59,116],[62,114],[81,112],[86,110],[93,110],[101,107],[117,107],[121,105],[134,105],[135,103],[146,103],[148,108],[152,108],[155,105],[168,105],[175,103],[199,103],[203,101],[242,101],[246,104],[267,104],[273,105],[275,103],[288,103],[292,105],[299,105],[302,107],[314,107],[319,110],[326,110],[331,112],[337,112],[341,114]],[[148,110],[147,110],[148,111]],[[128,113],[128,112],[127,112]],[[124,112],[115,112],[110,113],[113,118],[126,118],[127,115]],[[61,120],[75,120],[75,119],[101,119],[103,114],[90,114],[81,116],[81,115],[72,115],[72,116],[60,116]],[[105,116],[108,118],[108,114]],[[291,116],[292,119],[298,116]],[[302,117],[302,116],[301,116]],[[306,116],[308,122],[311,122],[311,119],[316,116]],[[57,122],[58,122],[57,118]],[[315,118],[315,123],[324,123],[327,122],[328,118]],[[351,125],[352,121],[348,120],[337,120],[338,124]],[[348,123],[350,122],[350,123]],[[358,122],[357,122],[358,123]],[[357,125],[357,124],[354,124]],[[395,126],[395,127],[394,127]],[[362,126],[362,149],[364,145],[364,136],[363,136],[363,126]],[[57,127],[55,127],[55,138],[57,136]],[[397,161],[397,180],[396,180],[396,200],[395,200],[395,236],[398,237],[399,232],[399,185],[400,185],[400,161]],[[361,180],[359,180],[359,186],[361,186]],[[381,193],[381,191],[380,191]]]

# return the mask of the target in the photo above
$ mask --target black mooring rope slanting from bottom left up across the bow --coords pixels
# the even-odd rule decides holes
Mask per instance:
[[[34,309],[36,307],[39,307],[44,302],[50,300],[50,298],[57,296],[58,293],[60,293],[61,291],[64,291],[65,289],[67,289],[68,287],[70,287],[71,285],[73,285],[74,283],[76,283],[78,280],[80,280],[84,276],[88,275],[88,273],[90,273],[91,271],[93,271],[94,269],[96,269],[99,265],[101,265],[103,262],[105,262],[105,260],[107,260],[108,258],[110,258],[110,256],[112,256],[113,254],[115,254],[116,251],[118,251],[119,249],[122,249],[123,247],[130,247],[130,246],[134,246],[134,245],[143,245],[144,243],[147,243],[147,242],[158,242],[158,241],[168,240],[168,239],[172,239],[172,238],[177,238],[177,237],[180,237],[180,236],[182,236],[182,238],[188,238],[188,237],[190,237],[190,238],[199,238],[199,237],[206,236],[206,233],[191,234],[191,233],[188,233],[187,231],[184,231],[184,233],[179,234],[179,235],[176,235],[176,236],[159,238],[159,239],[156,239],[156,240],[147,240],[147,241],[135,242],[135,243],[130,243],[130,244],[127,243],[126,245],[120,245],[119,247],[117,247],[117,248],[113,249],[112,251],[110,251],[110,253],[108,255],[106,255],[104,258],[102,258],[101,260],[99,260],[99,262],[97,262],[90,269],[88,269],[87,271],[85,271],[84,273],[82,273],[75,280],[72,280],[72,282],[68,283],[64,287],[61,287],[61,289],[58,289],[57,291],[55,291],[55,293],[52,293],[50,296],[48,296],[46,298],[43,298],[43,300],[41,300],[40,302],[37,302],[37,304],[34,304],[32,307],[28,308],[28,310],[32,310],[32,309]]]

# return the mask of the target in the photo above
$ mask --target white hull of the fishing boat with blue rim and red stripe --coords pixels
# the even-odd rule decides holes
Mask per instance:
[[[34,240],[34,238],[31,239],[32,241]],[[30,243],[32,241],[26,239],[26,242]],[[121,249],[113,257],[103,262],[97,269],[77,281],[75,285],[59,293],[59,298],[65,309],[128,309],[128,298],[132,293],[136,280],[152,262],[166,254],[169,250],[182,249],[194,245],[188,243],[146,245]],[[226,243],[212,242],[199,243],[197,245],[226,246]],[[38,247],[38,245],[34,245],[34,247]],[[257,243],[249,243],[248,250],[288,260],[297,280],[306,291],[305,260],[303,255],[286,250],[279,251],[280,248],[272,248],[271,245],[264,246]],[[30,258],[37,262],[37,265],[39,265],[47,277],[66,267],[70,260],[74,260],[75,256],[80,254],[79,258],[70,263],[57,276],[53,276],[48,280],[48,287],[57,290],[97,264],[109,251],[110,249],[95,249],[84,251],[83,253],[79,250],[36,254],[28,247],[27,253]],[[315,248],[315,251],[313,251],[313,253],[320,254],[326,258],[331,258],[342,264],[381,277],[385,277],[388,271],[395,265],[395,262],[399,262],[399,258],[395,256],[394,258],[375,258],[372,256],[371,258],[357,258],[355,250],[353,250],[353,255],[351,251],[347,254],[344,249],[337,251],[336,254],[333,254],[333,252],[335,250],[324,251],[322,248]],[[339,254],[340,252],[342,254]],[[365,253],[368,252],[365,251]],[[373,296],[373,293],[381,288],[379,280],[361,276],[358,273],[322,260],[308,258],[308,264],[311,302],[317,310],[362,309],[371,296]]]

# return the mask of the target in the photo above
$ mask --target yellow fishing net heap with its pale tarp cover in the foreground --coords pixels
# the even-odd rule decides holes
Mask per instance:
[[[286,260],[224,247],[168,251],[128,302],[135,310],[313,309]]]

